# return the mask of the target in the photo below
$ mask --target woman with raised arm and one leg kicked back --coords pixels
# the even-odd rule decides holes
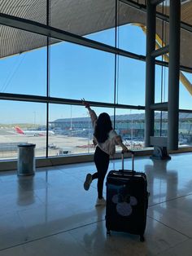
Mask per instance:
[[[128,152],[128,148],[122,143],[120,135],[116,134],[113,130],[111,119],[107,113],[101,113],[98,117],[94,110],[89,106],[89,103],[82,99],[82,104],[89,110],[92,125],[94,127],[94,144],[97,145],[94,152],[94,163],[97,172],[94,174],[87,174],[84,188],[89,190],[92,180],[98,179],[98,199],[96,205],[105,205],[106,201],[103,198],[103,182],[107,174],[109,166],[109,157],[113,156],[116,152],[116,145],[120,145],[123,152]]]

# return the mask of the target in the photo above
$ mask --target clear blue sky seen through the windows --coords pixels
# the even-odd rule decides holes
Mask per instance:
[[[142,29],[124,25],[120,27],[118,44],[121,49],[145,55],[146,36]],[[115,29],[94,33],[87,38],[115,45]],[[145,104],[145,63],[125,57],[118,57],[117,103]],[[50,50],[50,96],[67,99],[89,99],[113,103],[115,56],[88,47],[61,42]],[[15,55],[0,62],[1,92],[46,95],[46,47]],[[160,73],[156,68],[155,101],[160,100]],[[165,76],[165,101],[167,100],[168,72]],[[192,75],[187,77],[192,81]],[[180,86],[180,108],[192,109],[191,95]],[[45,123],[44,104],[0,101],[1,122]],[[100,108],[98,108],[99,110]],[[101,112],[103,109],[100,109]],[[107,109],[105,109],[107,111]],[[108,110],[111,111],[111,110]],[[107,111],[107,112],[108,112]],[[72,106],[72,116],[85,116],[85,109]],[[70,106],[51,105],[50,121],[71,115]]]

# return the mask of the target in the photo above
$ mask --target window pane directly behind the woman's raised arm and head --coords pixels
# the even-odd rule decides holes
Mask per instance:
[[[95,113],[108,113],[113,119],[113,108],[95,108]],[[84,106],[50,104],[49,156],[67,156],[94,152],[94,130]]]

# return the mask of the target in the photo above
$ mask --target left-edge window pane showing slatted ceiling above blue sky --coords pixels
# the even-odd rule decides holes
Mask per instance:
[[[2,55],[10,56],[0,59],[0,92],[46,95],[46,47],[28,51],[28,46],[24,41],[24,35],[27,32],[14,29],[13,35],[15,33],[20,33],[20,37],[17,40],[14,37],[11,39],[13,47],[9,46],[8,39],[2,42]],[[33,33],[28,33],[28,35],[35,42],[37,40],[37,45],[39,42],[42,45],[46,43],[46,37]],[[18,55],[18,51],[27,52]]]

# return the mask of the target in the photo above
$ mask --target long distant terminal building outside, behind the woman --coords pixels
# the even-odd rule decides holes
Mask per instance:
[[[114,125],[114,116],[111,116],[111,121]],[[145,130],[145,114],[127,114],[116,115],[115,119],[116,130],[123,139],[143,139]],[[74,136],[88,136],[88,133],[93,132],[89,117],[73,117],[61,118],[55,121],[50,121],[51,130],[55,130],[59,134]],[[168,113],[155,113],[155,135],[166,136],[168,130]],[[187,137],[189,142],[192,142],[192,113],[179,114],[179,135]]]

